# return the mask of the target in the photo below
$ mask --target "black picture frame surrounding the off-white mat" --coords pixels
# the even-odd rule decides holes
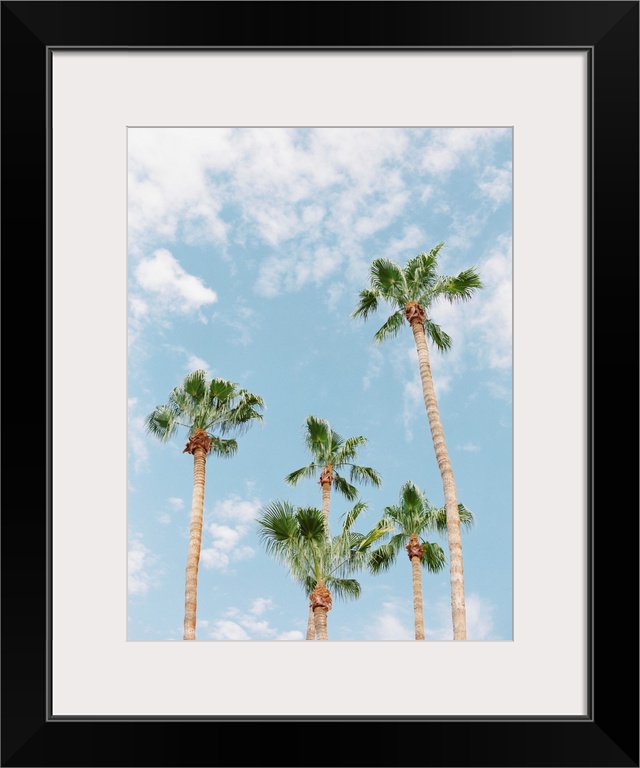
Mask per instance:
[[[638,766],[638,462],[630,448],[637,446],[637,440],[629,440],[627,433],[630,425],[635,426],[632,437],[637,438],[639,3],[54,0],[1,5],[2,266],[9,288],[5,341],[10,341],[11,351],[5,369],[11,407],[5,408],[5,418],[13,427],[7,432],[11,444],[6,453],[13,466],[5,473],[2,514],[2,765]],[[53,49],[148,47],[589,52],[588,716],[451,721],[48,717],[52,611],[48,59]],[[36,318],[42,326],[36,325]],[[39,363],[37,374],[34,358]],[[553,375],[542,370],[545,374]],[[25,382],[37,393],[40,407],[34,420],[25,413],[16,418],[14,397],[20,402]],[[33,402],[30,396],[29,404]],[[34,466],[41,479],[37,494]],[[634,489],[631,498],[629,486]],[[403,670],[400,660],[390,671],[373,674],[397,675],[399,695],[409,684],[424,684],[425,696],[432,695],[428,680],[421,680],[419,671]],[[302,676],[309,677],[309,672],[304,670]],[[241,671],[239,684],[250,689]],[[314,683],[308,679],[306,684]],[[378,732],[368,730],[353,738],[353,732],[349,736],[346,731],[377,721],[384,722]],[[274,738],[269,729],[287,722],[295,724],[295,732],[288,731],[286,742]],[[346,727],[337,728],[339,723]],[[260,731],[252,734],[255,725]]]

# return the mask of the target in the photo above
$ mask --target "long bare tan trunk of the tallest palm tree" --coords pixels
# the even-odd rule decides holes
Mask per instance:
[[[467,639],[467,617],[464,602],[464,571],[462,566],[462,537],[460,535],[460,514],[458,498],[453,478],[453,469],[444,440],[444,431],[440,421],[436,393],[431,376],[429,363],[429,348],[424,332],[423,323],[416,319],[411,322],[411,330],[416,342],[418,362],[420,364],[420,380],[422,394],[429,418],[433,447],[442,478],[444,503],[447,511],[447,538],[449,541],[449,573],[451,579],[451,613],[453,619],[453,639]]]

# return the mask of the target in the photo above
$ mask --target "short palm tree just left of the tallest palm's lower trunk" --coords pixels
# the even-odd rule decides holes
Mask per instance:
[[[463,526],[473,523],[473,515],[464,504],[458,504],[458,514]],[[434,530],[446,533],[446,509],[431,506],[424,493],[412,482],[407,482],[400,489],[399,503],[385,507],[382,517],[383,524],[392,527],[392,536],[371,553],[369,569],[374,574],[387,570],[395,563],[400,551],[403,548],[407,550],[411,562],[415,637],[416,640],[424,640],[420,568],[437,573],[444,568],[446,558],[439,544],[426,541],[421,536]]]

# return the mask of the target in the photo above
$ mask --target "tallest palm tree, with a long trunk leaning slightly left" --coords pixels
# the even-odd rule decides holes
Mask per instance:
[[[441,299],[451,303],[469,300],[477,289],[482,288],[482,282],[475,269],[466,269],[454,276],[439,275],[438,253],[443,246],[444,243],[439,243],[429,253],[418,254],[409,259],[404,267],[386,258],[375,259],[369,270],[370,287],[360,291],[358,306],[352,313],[352,317],[361,317],[366,320],[378,310],[382,301],[390,305],[394,311],[376,331],[374,341],[381,343],[385,339],[396,336],[405,320],[413,332],[418,353],[422,394],[442,478],[447,511],[453,637],[455,640],[466,640],[467,619],[458,498],[433,386],[427,339],[441,352],[451,347],[451,337],[433,322],[429,312]]]

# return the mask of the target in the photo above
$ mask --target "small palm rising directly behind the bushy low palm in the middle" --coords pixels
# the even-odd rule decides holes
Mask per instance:
[[[322,512],[324,515],[327,535],[329,535],[329,510],[331,508],[331,486],[344,496],[347,501],[354,501],[358,492],[338,470],[349,468],[349,478],[359,482],[379,487],[380,475],[371,467],[361,467],[354,464],[358,448],[366,445],[367,438],[358,436],[345,440],[335,432],[326,419],[307,416],[305,422],[304,442],[313,461],[306,467],[301,467],[288,474],[285,478],[290,485],[296,485],[301,479],[315,477],[319,474],[318,485],[322,489]],[[315,622],[313,611],[309,609],[307,621],[307,640],[315,637]]]

